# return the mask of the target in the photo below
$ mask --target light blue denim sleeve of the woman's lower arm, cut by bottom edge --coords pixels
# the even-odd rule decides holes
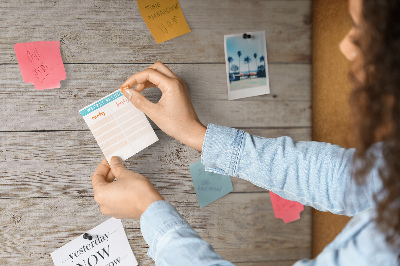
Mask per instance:
[[[140,217],[140,228],[156,265],[233,265],[215,253],[167,201],[153,202]]]

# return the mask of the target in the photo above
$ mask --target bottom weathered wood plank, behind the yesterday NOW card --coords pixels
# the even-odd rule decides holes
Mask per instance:
[[[310,256],[311,209],[299,221],[274,217],[268,193],[229,194],[199,209],[195,195],[166,197],[216,252],[232,262]],[[108,219],[91,198],[0,199],[1,265],[52,265],[50,253]],[[223,217],[223,218],[222,218]],[[139,265],[154,265],[139,222],[123,221]],[[294,233],[296,232],[296,233]]]

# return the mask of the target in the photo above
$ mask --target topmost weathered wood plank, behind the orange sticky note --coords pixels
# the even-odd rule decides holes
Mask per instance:
[[[310,0],[179,2],[192,32],[157,45],[136,2],[2,1],[0,63],[16,62],[15,43],[43,40],[60,40],[66,63],[223,63],[224,35],[255,30],[269,62],[311,62]]]

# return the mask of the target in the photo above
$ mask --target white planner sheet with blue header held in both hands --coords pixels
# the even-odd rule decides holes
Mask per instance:
[[[145,114],[119,91],[79,111],[107,161],[126,160],[158,140]]]

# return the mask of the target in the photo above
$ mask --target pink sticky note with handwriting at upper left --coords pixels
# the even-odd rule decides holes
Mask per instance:
[[[35,89],[59,88],[60,81],[67,78],[60,42],[16,43],[14,50],[24,82],[33,83]]]

